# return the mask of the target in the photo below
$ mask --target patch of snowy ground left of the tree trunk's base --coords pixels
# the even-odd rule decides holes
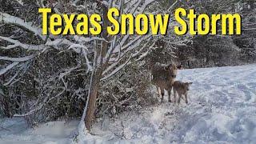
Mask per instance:
[[[78,121],[47,122],[29,129],[23,118],[4,118],[0,122],[0,144],[68,144],[72,142]]]

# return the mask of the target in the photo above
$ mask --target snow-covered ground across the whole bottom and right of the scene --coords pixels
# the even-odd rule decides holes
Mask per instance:
[[[102,118],[85,143],[256,143],[256,64],[180,70],[194,82],[189,104],[165,102],[116,118]],[[150,95],[149,95],[150,97]],[[1,120],[0,120],[1,123]],[[26,129],[4,119],[0,143],[70,143],[78,122],[48,122]],[[75,138],[74,138],[75,139]],[[77,142],[76,140],[73,141]]]

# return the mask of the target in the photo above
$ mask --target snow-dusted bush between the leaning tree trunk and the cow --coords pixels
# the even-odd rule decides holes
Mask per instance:
[[[108,82],[103,82],[97,101],[97,116],[114,116],[123,111],[138,110],[143,106],[154,105],[157,98],[152,93],[150,71],[142,62],[126,66]]]

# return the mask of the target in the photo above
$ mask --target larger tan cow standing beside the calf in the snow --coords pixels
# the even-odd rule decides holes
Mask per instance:
[[[176,78],[177,71],[182,69],[182,66],[176,66],[170,64],[169,66],[154,65],[151,69],[151,74],[153,76],[152,83],[158,89],[158,96],[162,95],[162,100],[165,94],[164,90],[168,91],[168,101],[170,101],[170,91]]]

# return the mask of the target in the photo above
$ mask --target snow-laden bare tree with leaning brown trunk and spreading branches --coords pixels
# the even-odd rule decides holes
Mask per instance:
[[[31,3],[34,5],[31,5]],[[54,13],[58,14],[84,13],[90,15],[98,13],[102,15],[102,34],[97,37],[86,37],[78,35],[42,35],[42,18],[38,18],[37,14],[31,14],[31,17],[28,17],[29,12],[26,14],[22,12],[16,14],[15,10],[10,12],[2,10],[0,12],[1,25],[12,27],[12,29],[8,30],[8,32],[4,31],[3,35],[0,36],[2,42],[1,50],[5,52],[0,56],[2,62],[0,75],[7,75],[3,86],[10,86],[14,82],[18,82],[20,80],[19,77],[30,68],[30,64],[42,54],[49,53],[50,50],[57,50],[59,54],[71,51],[79,57],[76,58],[78,61],[76,66],[62,70],[55,78],[49,78],[48,82],[54,82],[56,78],[63,82],[63,86],[51,89],[58,91],[55,96],[46,94],[45,97],[38,98],[28,112],[19,116],[34,114],[38,110],[42,110],[52,99],[58,98],[65,93],[67,89],[65,77],[75,70],[81,70],[81,67],[83,67],[86,70],[85,73],[90,74],[90,87],[82,115],[82,123],[84,121],[83,124],[89,130],[94,118],[95,102],[101,82],[107,81],[125,66],[146,57],[154,46],[153,36],[150,33],[146,35],[117,34],[114,36],[107,34],[106,27],[110,26],[110,22],[106,18],[107,11],[111,7],[116,7],[121,14],[154,13],[152,9],[148,11],[152,8],[150,7],[152,3],[154,3],[154,0],[10,2],[10,5],[15,4],[21,7],[23,5],[34,6],[33,8],[52,7]],[[167,10],[158,10],[156,13],[170,13],[174,3],[168,3]],[[120,21],[121,19],[118,20]],[[20,37],[21,35],[22,37]],[[6,51],[8,54],[6,54]]]

